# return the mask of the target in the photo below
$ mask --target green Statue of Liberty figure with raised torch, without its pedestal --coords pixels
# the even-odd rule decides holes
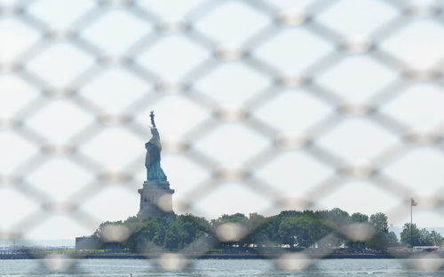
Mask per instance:
[[[149,184],[168,184],[167,177],[161,168],[161,139],[159,131],[155,127],[155,115],[151,111],[151,134],[153,137],[145,144],[147,149],[147,158],[145,166],[147,167],[147,182]]]

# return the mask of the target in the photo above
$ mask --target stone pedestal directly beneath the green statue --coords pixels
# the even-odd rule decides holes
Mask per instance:
[[[145,181],[139,189],[140,210],[138,216],[152,218],[168,217],[174,214],[172,210],[172,194],[170,183],[149,183]]]

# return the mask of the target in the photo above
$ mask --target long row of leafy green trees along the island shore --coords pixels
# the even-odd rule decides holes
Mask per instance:
[[[221,240],[218,228],[225,224],[236,226],[242,235]],[[125,226],[131,235],[123,247],[132,251],[150,248],[183,249],[194,241],[211,243],[211,248],[245,249],[251,247],[378,249],[410,244],[410,225],[406,224],[398,241],[389,232],[387,217],[377,212],[368,217],[361,213],[349,215],[345,210],[285,210],[272,217],[258,213],[223,215],[207,220],[194,215],[175,215],[172,218],[131,217],[124,221],[102,223],[94,233],[103,239],[106,226]],[[223,229],[219,229],[223,230]],[[413,226],[413,245],[441,245],[440,233],[418,230]],[[216,242],[215,242],[216,241]],[[195,244],[195,243],[194,243]],[[193,244],[193,245],[194,245]],[[193,246],[192,245],[192,246]]]

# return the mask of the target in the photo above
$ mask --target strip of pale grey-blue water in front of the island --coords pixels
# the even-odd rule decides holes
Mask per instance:
[[[75,261],[73,261],[75,262]],[[289,273],[275,266],[272,260],[205,259],[196,260],[179,272],[165,272],[154,262],[137,259],[87,259],[75,262],[71,270],[66,264],[47,264],[42,260],[0,260],[0,276],[444,276],[418,271],[408,260],[397,259],[327,259],[303,272]],[[417,261],[416,261],[417,262]],[[429,270],[441,260],[432,261]],[[424,264],[423,264],[424,265]],[[425,264],[425,268],[427,269]],[[52,269],[48,269],[52,267]]]

